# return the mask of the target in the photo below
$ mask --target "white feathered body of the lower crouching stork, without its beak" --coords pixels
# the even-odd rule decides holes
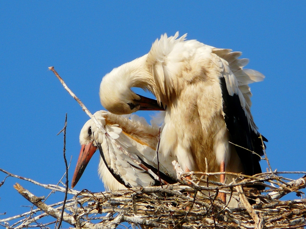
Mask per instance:
[[[102,128],[137,161],[140,162],[139,158],[141,158],[147,164],[157,167],[157,161],[155,160],[155,148],[159,134],[157,126],[152,127],[148,125],[144,118],[140,118],[137,115],[113,115],[107,111],[98,111],[94,115]],[[90,140],[87,131],[89,126],[91,126],[95,143],[101,144],[107,165],[114,173],[121,177],[125,185],[145,187],[155,184],[155,180],[114,146],[103,131],[97,128],[91,120],[86,122],[82,128],[80,134],[81,144],[84,144],[84,139],[86,139],[85,143]],[[151,136],[151,138],[148,139],[148,136]],[[101,158],[98,171],[106,190],[114,191],[124,187],[110,174]],[[167,161],[163,157],[161,157],[160,171],[175,174],[171,161]]]

